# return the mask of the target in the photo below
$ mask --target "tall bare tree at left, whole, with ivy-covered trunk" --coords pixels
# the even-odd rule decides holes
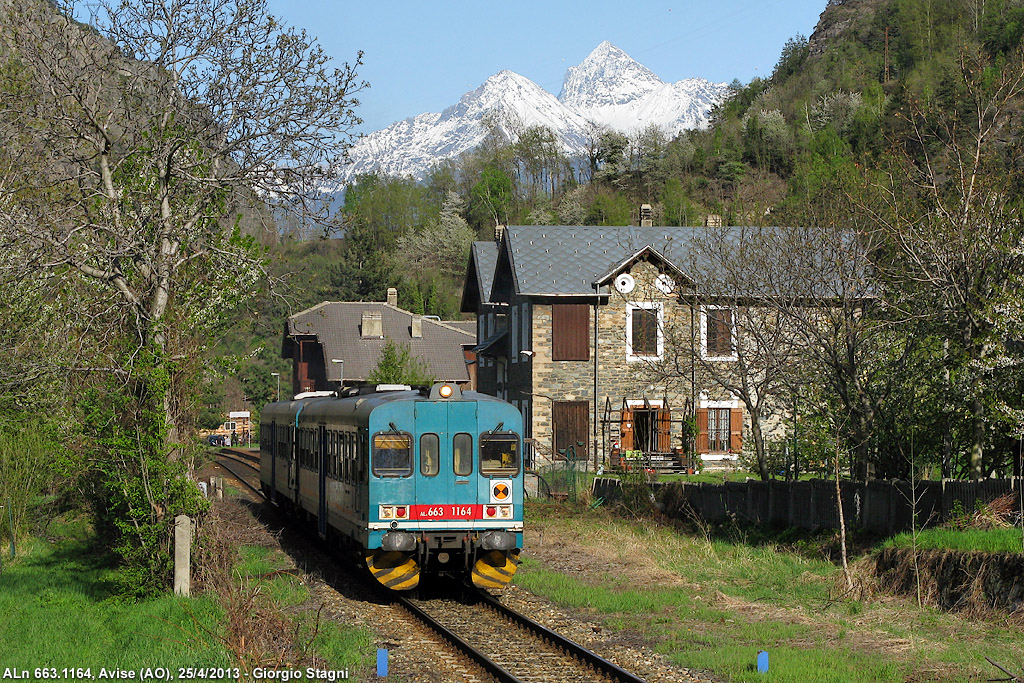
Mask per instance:
[[[94,316],[109,361],[82,397],[81,467],[122,587],[144,595],[167,582],[168,520],[202,505],[178,432],[189,369],[265,276],[240,226],[326,220],[361,55],[331,68],[265,0],[97,0],[93,27],[79,4],[0,4],[0,249],[17,255],[0,278],[58,279]]]

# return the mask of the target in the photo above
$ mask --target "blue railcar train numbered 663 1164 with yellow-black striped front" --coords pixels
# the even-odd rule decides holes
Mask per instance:
[[[508,584],[522,548],[522,417],[452,384],[379,386],[268,404],[260,424],[267,499],[354,545],[385,586],[422,571]]]

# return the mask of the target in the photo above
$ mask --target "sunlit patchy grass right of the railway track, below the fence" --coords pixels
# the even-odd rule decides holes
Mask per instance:
[[[584,506],[531,501],[526,515],[536,536],[527,537],[517,585],[639,634],[680,666],[732,681],[859,683],[984,680],[998,674],[985,655],[1024,663],[1024,638],[1013,625],[845,597],[841,570],[808,552],[824,539],[793,552],[771,535],[720,528],[691,536]],[[615,563],[615,570],[569,575],[546,566],[530,556],[530,541],[540,543],[545,529],[575,539],[582,553],[595,553],[595,565]],[[756,671],[762,649],[768,675]]]

